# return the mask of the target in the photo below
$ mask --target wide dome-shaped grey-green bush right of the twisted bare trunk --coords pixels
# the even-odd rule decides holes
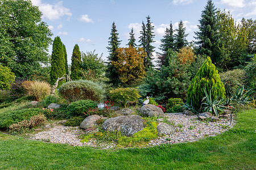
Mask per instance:
[[[100,101],[104,96],[103,87],[90,80],[76,80],[63,84],[59,88],[60,95],[71,103],[78,100]]]

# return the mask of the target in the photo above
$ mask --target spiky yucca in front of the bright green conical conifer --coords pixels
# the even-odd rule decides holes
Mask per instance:
[[[218,111],[222,111],[224,108],[226,108],[223,105],[225,103],[225,100],[223,98],[218,100],[220,98],[219,95],[217,95],[217,97],[214,100],[212,100],[211,92],[212,92],[212,89],[210,90],[210,93],[208,95],[207,91],[204,88],[205,97],[203,98],[202,102],[205,100],[206,103],[202,103],[201,105],[204,105],[203,107],[204,112],[210,112],[212,114],[215,114],[215,116],[218,116]]]

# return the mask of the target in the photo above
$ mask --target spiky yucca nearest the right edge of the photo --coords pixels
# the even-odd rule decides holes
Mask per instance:
[[[233,100],[238,104],[246,105],[251,102],[251,97],[249,97],[253,93],[253,90],[245,90],[245,86],[241,86],[237,88],[236,94],[233,96]]]

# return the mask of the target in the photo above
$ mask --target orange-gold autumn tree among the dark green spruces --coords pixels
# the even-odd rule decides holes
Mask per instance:
[[[119,74],[119,79],[123,84],[131,86],[138,83],[146,74],[145,67],[143,65],[143,58],[146,57],[146,53],[143,48],[118,48],[116,50],[118,60],[112,61],[115,69]]]

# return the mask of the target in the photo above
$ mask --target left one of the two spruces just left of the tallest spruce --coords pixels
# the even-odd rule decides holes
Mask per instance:
[[[166,35],[164,35],[163,39],[160,40],[162,44],[160,44],[159,48],[163,53],[166,53],[168,49],[174,50],[174,30],[172,29],[172,22],[170,24],[170,28],[166,28],[165,33]]]

